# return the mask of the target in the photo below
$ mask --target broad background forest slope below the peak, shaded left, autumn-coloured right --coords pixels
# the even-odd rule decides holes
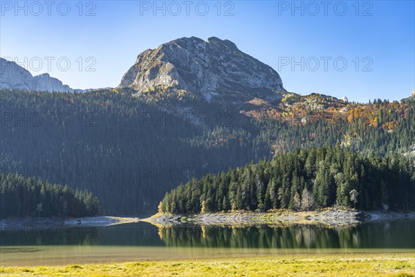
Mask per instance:
[[[153,213],[168,190],[193,177],[296,148],[339,144],[391,159],[414,146],[412,100],[361,105],[294,96],[234,111],[201,99],[149,100],[129,89],[2,89],[0,168],[86,188],[104,213],[136,215]]]

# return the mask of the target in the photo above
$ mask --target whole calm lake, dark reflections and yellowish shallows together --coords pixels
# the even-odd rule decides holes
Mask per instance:
[[[1,265],[367,251],[414,251],[415,220],[355,226],[27,226],[1,231]]]

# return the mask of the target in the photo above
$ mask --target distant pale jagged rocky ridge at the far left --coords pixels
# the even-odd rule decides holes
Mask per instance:
[[[0,57],[0,89],[73,92],[66,84],[48,73],[33,77],[24,67]]]

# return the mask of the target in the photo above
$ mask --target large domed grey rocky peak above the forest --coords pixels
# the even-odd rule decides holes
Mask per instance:
[[[208,101],[232,93],[249,100],[255,93],[285,91],[274,69],[216,37],[183,37],[142,52],[118,88],[140,93],[158,86],[190,91]]]

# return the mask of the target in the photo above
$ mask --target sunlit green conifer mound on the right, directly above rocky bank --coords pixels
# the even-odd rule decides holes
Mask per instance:
[[[311,148],[276,154],[219,175],[193,179],[167,193],[160,212],[310,211],[333,206],[362,210],[415,207],[415,168],[399,157]]]

